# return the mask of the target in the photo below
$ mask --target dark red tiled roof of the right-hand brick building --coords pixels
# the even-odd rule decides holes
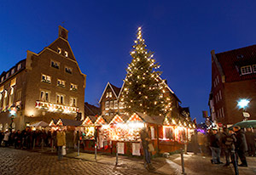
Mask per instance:
[[[256,74],[241,75],[241,66],[256,65],[256,45],[215,54],[225,76],[225,82],[255,79]]]

